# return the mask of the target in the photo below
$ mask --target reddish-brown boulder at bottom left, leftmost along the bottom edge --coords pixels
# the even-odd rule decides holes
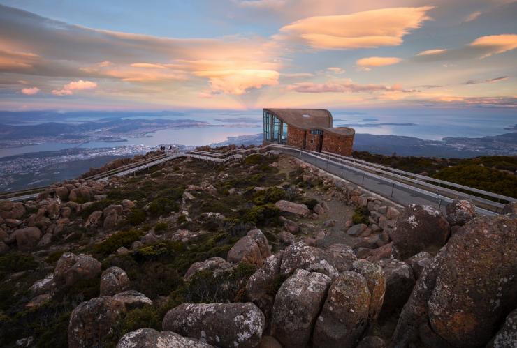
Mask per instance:
[[[68,347],[101,347],[103,337],[108,335],[124,312],[124,304],[109,296],[80,303],[70,316]]]

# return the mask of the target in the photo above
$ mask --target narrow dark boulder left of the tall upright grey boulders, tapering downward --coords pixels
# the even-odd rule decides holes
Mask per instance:
[[[266,328],[270,326],[271,310],[277,294],[277,284],[282,280],[280,276],[282,254],[281,251],[265,259],[264,266],[249,277],[246,283],[246,298],[262,310]]]

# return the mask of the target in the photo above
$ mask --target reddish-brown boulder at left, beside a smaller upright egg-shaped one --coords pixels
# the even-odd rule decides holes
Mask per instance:
[[[65,252],[57,261],[54,280],[58,285],[71,286],[78,280],[93,279],[101,274],[101,262],[92,255]]]

